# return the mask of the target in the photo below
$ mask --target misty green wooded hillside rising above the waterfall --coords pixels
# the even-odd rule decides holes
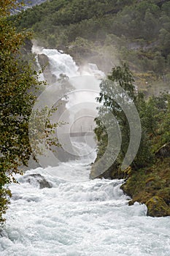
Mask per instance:
[[[110,72],[118,60],[128,61],[144,91],[169,87],[170,1],[53,0],[22,12],[17,26],[79,64],[96,61]]]

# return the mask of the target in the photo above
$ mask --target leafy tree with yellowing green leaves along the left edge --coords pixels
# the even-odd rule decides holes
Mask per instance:
[[[38,74],[20,59],[20,46],[28,34],[18,33],[9,22],[9,10],[15,1],[1,1],[0,11],[0,222],[7,209],[11,195],[7,184],[15,181],[13,174],[20,173],[18,167],[27,165],[32,151],[28,138],[28,122],[36,100],[35,91],[42,83]],[[46,110],[47,112],[47,110]],[[38,113],[37,113],[38,114]],[[39,126],[45,113],[39,113]],[[38,118],[38,117],[37,117]],[[36,140],[50,139],[50,121],[47,130],[41,133],[34,129]],[[52,143],[49,140],[49,143]],[[53,143],[52,143],[53,144]]]

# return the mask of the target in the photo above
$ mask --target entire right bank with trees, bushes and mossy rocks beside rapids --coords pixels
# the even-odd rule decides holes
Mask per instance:
[[[100,159],[103,159],[105,154],[105,161],[112,165],[98,178],[127,178],[122,188],[132,197],[131,203],[135,201],[146,203],[150,216],[170,215],[170,94],[144,99],[141,92],[134,90],[133,76],[125,64],[123,67],[113,68],[111,75],[108,75],[107,78],[112,83],[103,80],[100,85],[101,92],[97,98],[97,101],[101,103],[95,129],[98,142],[97,158],[92,165],[90,177],[96,178],[98,169],[104,170],[104,166],[101,165],[106,165],[106,162],[100,161]],[[133,100],[142,125],[139,150],[131,165],[124,171],[120,169],[128,149],[131,133],[124,111],[115,102],[115,99],[112,99],[117,84],[122,86]],[[118,98],[119,95],[116,95]],[[125,97],[125,94],[121,93],[120,100]],[[132,102],[128,102],[128,108],[131,107],[131,104]],[[108,140],[107,131],[113,129],[115,124],[105,118],[108,113],[115,116],[122,135],[120,152],[114,163],[112,163],[112,157],[117,145],[110,141],[112,138]],[[102,120],[105,122],[103,123]],[[136,123],[131,126],[138,129]],[[108,143],[112,143],[112,150],[107,151]]]

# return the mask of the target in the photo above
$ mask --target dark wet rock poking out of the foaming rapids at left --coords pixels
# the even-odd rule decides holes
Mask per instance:
[[[39,189],[44,189],[45,187],[51,188],[53,187],[50,182],[46,181],[45,177],[43,177],[39,173],[33,173],[33,174],[28,174],[23,177],[24,180],[30,184],[39,184]]]

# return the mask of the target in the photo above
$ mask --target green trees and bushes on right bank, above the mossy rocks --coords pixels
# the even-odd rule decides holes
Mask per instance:
[[[117,168],[119,168],[122,164],[125,157],[125,152],[128,149],[128,143],[131,136],[128,120],[123,109],[121,109],[120,105],[115,102],[115,98],[112,98],[112,95],[117,93],[116,87],[118,84],[128,93],[128,96],[136,105],[142,124],[142,139],[139,146],[139,151],[136,154],[131,167],[133,167],[134,170],[137,170],[139,167],[152,165],[155,151],[163,146],[163,144],[169,143],[170,141],[170,95],[161,94],[159,97],[153,96],[150,97],[150,99],[145,100],[144,95],[141,92],[135,91],[133,75],[125,64],[123,64],[123,67],[113,68],[111,75],[108,75],[107,78],[111,80],[112,83],[109,83],[108,80],[102,80],[100,84],[101,93],[97,98],[97,101],[102,104],[98,109],[98,117],[96,118],[97,127],[95,129],[98,140],[97,160],[103,156],[108,145],[108,126],[112,127],[114,125],[111,122],[110,124],[107,124],[106,129],[106,124],[102,122],[104,116],[106,116],[109,112],[115,116],[122,135],[122,146],[120,148],[120,154],[116,159]],[[118,97],[118,95],[116,97]],[[120,99],[123,98],[125,98],[125,95],[121,93]],[[131,102],[129,102],[129,105],[131,105]],[[135,125],[136,124],[134,124],[134,127]],[[110,155],[110,159],[112,159],[111,157],[112,155]]]

